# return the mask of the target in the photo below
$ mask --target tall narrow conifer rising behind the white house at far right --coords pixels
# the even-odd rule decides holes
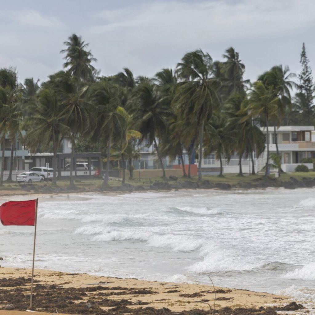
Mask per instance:
[[[305,44],[303,43],[300,63],[302,66],[302,71],[299,74],[299,92],[296,93],[296,105],[302,114],[302,124],[312,125],[314,118],[314,108],[313,108],[313,77],[312,69],[308,65],[309,60],[306,55]]]

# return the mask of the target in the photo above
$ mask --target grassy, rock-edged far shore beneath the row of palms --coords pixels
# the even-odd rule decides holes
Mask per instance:
[[[307,174],[307,173],[306,173]],[[301,176],[300,176],[301,177]],[[234,181],[231,180],[233,178]],[[238,189],[242,190],[257,190],[266,188],[284,188],[284,189],[297,189],[297,188],[312,188],[315,187],[315,177],[302,177],[299,179],[292,176],[286,178],[286,180],[278,178],[264,178],[257,177],[247,180],[246,177],[234,178],[225,177],[221,181],[217,181],[217,178],[205,179],[201,182],[193,181],[180,178],[177,179],[167,179],[167,180],[156,180],[152,182],[141,182],[135,180],[130,183],[122,184],[118,180],[119,185],[117,185],[117,180],[115,180],[114,185],[102,186],[100,183],[89,182],[87,184],[84,180],[77,183],[77,186],[70,187],[62,183],[63,185],[52,186],[49,183],[44,183],[43,185],[33,185],[33,184],[22,184],[19,187],[9,186],[4,189],[0,189],[0,197],[11,196],[11,195],[32,195],[32,194],[72,194],[72,193],[84,193],[84,192],[94,192],[94,193],[129,193],[129,192],[158,192],[158,191],[176,191],[176,190],[186,190],[186,189],[211,189],[211,190],[223,190],[223,191],[234,191]],[[238,181],[235,181],[238,180]]]

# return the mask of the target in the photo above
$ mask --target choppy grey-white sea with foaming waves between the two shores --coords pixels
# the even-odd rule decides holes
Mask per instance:
[[[79,199],[79,200],[76,200]],[[50,198],[35,268],[191,282],[315,301],[313,189]],[[31,267],[34,227],[0,226],[4,266]]]

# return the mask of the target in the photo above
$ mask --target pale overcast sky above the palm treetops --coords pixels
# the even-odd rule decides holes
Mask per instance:
[[[102,75],[129,67],[153,76],[201,48],[222,60],[232,46],[254,81],[274,65],[301,71],[302,43],[315,72],[314,0],[15,0],[1,4],[0,67],[19,80],[45,81],[62,69],[59,53],[82,36]]]

